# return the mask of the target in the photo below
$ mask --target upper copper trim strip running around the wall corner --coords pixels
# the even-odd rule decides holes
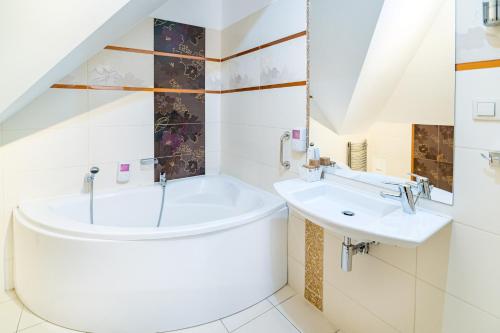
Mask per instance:
[[[107,45],[104,49],[106,50],[113,50],[113,51],[121,51],[121,52],[131,52],[131,53],[141,53],[141,54],[151,54],[151,55],[157,55],[157,56],[163,56],[163,57],[172,57],[172,58],[183,58],[183,59],[192,59],[192,60],[199,60],[199,61],[210,61],[210,62],[224,62],[233,58],[241,57],[245,54],[249,54],[252,52],[256,52],[262,49],[265,49],[267,47],[271,47],[276,44],[288,42],[289,40],[295,39],[295,38],[300,38],[302,36],[306,36],[307,32],[306,31],[301,31],[296,34],[292,34],[280,39],[277,39],[275,41],[262,44],[256,47],[253,47],[251,49],[245,50],[238,52],[236,54],[227,56],[222,59],[218,58],[208,58],[208,57],[199,57],[199,56],[192,56],[192,55],[187,55],[187,54],[178,54],[178,53],[169,53],[169,52],[160,52],[160,51],[152,51],[152,50],[144,50],[144,49],[136,49],[136,48],[131,48],[131,47],[122,47],[122,46],[116,46],[116,45]]]

